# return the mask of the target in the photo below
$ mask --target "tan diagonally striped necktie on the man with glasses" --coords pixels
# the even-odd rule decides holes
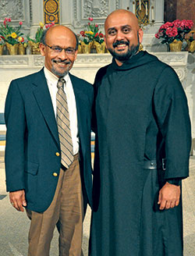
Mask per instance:
[[[69,126],[69,108],[66,93],[64,91],[66,80],[62,77],[58,80],[58,91],[56,94],[58,137],[61,148],[61,162],[66,168],[73,162],[73,140]]]

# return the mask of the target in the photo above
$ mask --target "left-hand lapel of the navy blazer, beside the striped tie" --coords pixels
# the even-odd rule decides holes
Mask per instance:
[[[37,77],[34,82],[34,97],[37,100],[37,104],[42,112],[45,122],[48,124],[48,129],[51,131],[52,136],[54,137],[56,143],[59,146],[58,139],[58,127],[55,119],[55,112],[53,109],[51,96],[48,90],[48,84],[44,76],[44,71],[41,69],[37,73]]]

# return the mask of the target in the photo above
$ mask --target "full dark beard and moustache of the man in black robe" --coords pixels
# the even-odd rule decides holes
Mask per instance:
[[[112,44],[113,48],[108,48],[108,51],[112,54],[112,56],[115,58],[115,59],[118,59],[119,61],[126,61],[127,59],[130,59],[132,58],[134,55],[137,54],[138,50],[139,50],[139,47],[140,47],[140,40],[139,40],[139,35],[137,34],[137,40],[138,40],[138,44],[137,45],[131,45],[131,47],[129,47],[129,41],[116,41],[115,43]],[[128,50],[127,52],[121,52],[121,53],[118,53],[118,52],[115,52],[115,48],[117,47],[117,45],[119,44],[126,44],[128,45]]]

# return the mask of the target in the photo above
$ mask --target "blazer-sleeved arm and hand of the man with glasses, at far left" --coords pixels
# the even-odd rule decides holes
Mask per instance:
[[[24,133],[26,128],[23,98],[16,81],[12,81],[5,101],[5,174],[12,205],[23,212],[27,206],[24,192]]]

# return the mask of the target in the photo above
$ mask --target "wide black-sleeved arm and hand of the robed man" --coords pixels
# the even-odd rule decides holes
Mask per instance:
[[[178,76],[171,68],[161,73],[154,95],[158,126],[165,140],[165,180],[159,191],[161,210],[179,204],[180,184],[189,174],[191,145],[190,116],[186,95]]]

